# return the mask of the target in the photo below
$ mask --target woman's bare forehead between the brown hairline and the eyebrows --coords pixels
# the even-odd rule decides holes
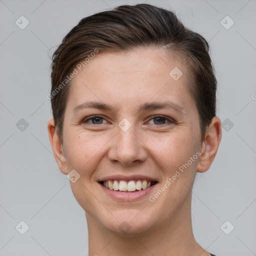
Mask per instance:
[[[181,104],[191,100],[186,80],[185,66],[163,49],[97,53],[72,78],[68,102],[75,107],[92,98],[134,104],[174,97]]]

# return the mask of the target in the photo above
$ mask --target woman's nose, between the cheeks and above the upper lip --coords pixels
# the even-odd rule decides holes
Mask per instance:
[[[147,157],[146,145],[142,142],[138,132],[131,127],[123,131],[117,127],[117,134],[111,140],[108,159],[120,162],[123,165],[132,165],[134,162],[143,162]]]

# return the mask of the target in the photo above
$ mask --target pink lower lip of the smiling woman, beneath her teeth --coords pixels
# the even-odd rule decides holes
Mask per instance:
[[[116,191],[113,189],[109,189],[102,184],[98,183],[100,187],[112,198],[117,199],[119,201],[133,201],[137,199],[141,199],[142,197],[148,195],[152,189],[154,189],[155,185],[149,186],[146,189],[141,189],[135,192],[121,192],[121,191]]]

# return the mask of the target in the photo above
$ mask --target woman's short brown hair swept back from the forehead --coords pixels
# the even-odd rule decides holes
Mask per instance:
[[[216,112],[216,78],[209,45],[201,35],[184,27],[174,12],[150,4],[137,4],[121,5],[82,18],[53,53],[51,108],[61,142],[69,82],[61,89],[59,85],[74,65],[95,49],[123,52],[140,46],[163,48],[188,63],[192,76],[188,87],[199,112],[203,139],[205,128]]]

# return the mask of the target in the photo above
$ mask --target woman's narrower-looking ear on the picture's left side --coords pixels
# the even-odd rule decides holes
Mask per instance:
[[[49,119],[47,127],[48,127],[51,148],[52,148],[55,160],[58,164],[58,167],[61,172],[63,172],[64,174],[68,174],[63,147],[55,129],[54,119]]]

